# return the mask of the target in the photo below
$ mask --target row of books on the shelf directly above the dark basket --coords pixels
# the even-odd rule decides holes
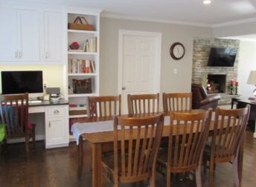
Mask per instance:
[[[70,59],[68,73],[95,73],[95,62],[91,59]]]

